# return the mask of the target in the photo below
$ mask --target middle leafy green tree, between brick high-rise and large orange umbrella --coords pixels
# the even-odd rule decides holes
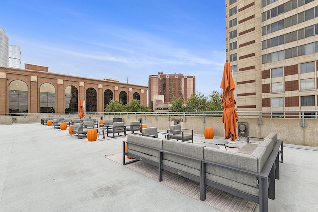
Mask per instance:
[[[202,93],[196,92],[187,101],[185,111],[207,111],[208,101]]]

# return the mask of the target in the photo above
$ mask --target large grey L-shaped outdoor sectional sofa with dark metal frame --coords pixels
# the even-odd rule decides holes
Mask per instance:
[[[123,165],[141,160],[158,167],[159,181],[164,180],[162,172],[166,170],[199,182],[203,201],[206,186],[211,186],[259,203],[260,211],[267,212],[268,198],[275,199],[282,145],[276,133],[270,133],[259,145],[249,143],[237,152],[129,134],[123,141]],[[125,155],[136,159],[126,162]]]

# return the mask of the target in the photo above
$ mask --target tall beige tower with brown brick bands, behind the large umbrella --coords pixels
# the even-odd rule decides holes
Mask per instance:
[[[317,110],[318,0],[226,0],[225,7],[238,110]]]

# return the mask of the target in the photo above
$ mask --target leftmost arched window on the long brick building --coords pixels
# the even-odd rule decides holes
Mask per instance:
[[[28,85],[14,80],[9,85],[9,113],[28,112]]]

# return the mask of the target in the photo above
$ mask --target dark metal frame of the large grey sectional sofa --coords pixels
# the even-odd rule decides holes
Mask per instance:
[[[162,181],[162,171],[167,170],[169,172],[172,172],[172,173],[181,175],[183,177],[189,178],[191,180],[200,182],[200,200],[202,200],[202,201],[204,201],[206,199],[206,186],[211,186],[211,187],[217,188],[219,190],[228,192],[230,194],[239,196],[243,199],[247,199],[249,201],[258,203],[260,212],[268,212],[268,198],[270,198],[272,200],[275,199],[275,179],[279,180],[279,163],[280,163],[280,161],[279,161],[280,149],[279,148],[281,145],[283,145],[282,140],[277,140],[277,143],[274,146],[272,153],[268,157],[267,162],[265,163],[265,165],[260,173],[252,172],[252,171],[248,171],[245,169],[240,169],[237,167],[228,166],[228,165],[224,165],[224,164],[220,164],[220,163],[215,163],[215,162],[211,162],[211,161],[207,161],[207,160],[200,160],[198,158],[192,158],[189,156],[165,151],[162,149],[152,148],[152,147],[137,144],[137,143],[131,143],[133,145],[138,145],[138,146],[142,146],[142,147],[146,147],[146,148],[150,148],[150,149],[158,151],[158,162],[156,162],[156,161],[149,160],[147,158],[141,157],[141,156],[136,155],[136,154],[125,152],[125,143],[130,143],[130,142],[123,141],[123,165],[133,163],[133,162],[140,160],[140,161],[143,161],[143,162],[146,162],[146,163],[149,163],[149,164],[152,164],[152,165],[158,167],[158,172],[159,172],[158,173],[158,180],[159,181]],[[174,168],[167,167],[167,166],[163,165],[162,164],[163,153],[173,154],[173,155],[181,156],[184,158],[189,158],[189,159],[194,159],[194,160],[200,161],[201,162],[200,177],[194,176],[192,174],[180,171],[178,169],[174,169]],[[129,161],[129,162],[126,162],[125,156],[131,156],[131,157],[136,158],[136,159]],[[251,195],[251,194],[242,192],[238,189],[234,189],[234,188],[231,188],[229,186],[222,185],[222,184],[219,184],[219,183],[216,183],[216,182],[213,182],[213,181],[206,179],[206,177],[205,177],[206,164],[212,164],[212,165],[216,165],[216,166],[226,168],[229,170],[239,171],[239,172],[242,172],[245,174],[249,174],[249,175],[258,177],[259,196]]]

